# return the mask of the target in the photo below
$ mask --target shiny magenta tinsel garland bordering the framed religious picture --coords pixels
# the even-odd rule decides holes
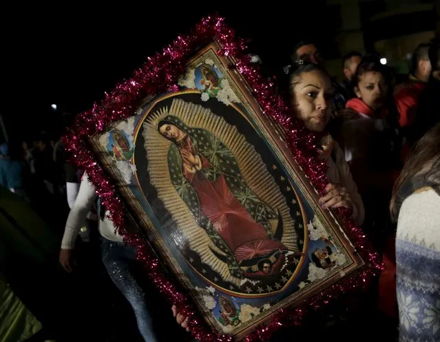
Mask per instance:
[[[187,292],[180,290],[180,284],[171,281],[164,271],[163,263],[158,254],[151,248],[148,239],[138,230],[129,229],[126,201],[120,196],[114,178],[109,176],[92,148],[90,137],[106,132],[115,122],[121,122],[138,114],[138,108],[148,96],[179,92],[179,77],[185,73],[187,62],[198,49],[215,41],[220,48],[220,57],[231,61],[229,70],[236,72],[245,83],[251,96],[258,102],[261,112],[275,125],[283,130],[282,136],[286,148],[293,156],[295,163],[302,169],[304,176],[313,185],[315,192],[324,194],[328,183],[326,164],[319,159],[317,152],[318,137],[307,130],[303,123],[296,119],[295,114],[284,100],[275,94],[274,84],[262,77],[257,63],[247,51],[248,41],[235,36],[221,17],[202,19],[190,34],[180,35],[176,41],[163,52],[135,70],[131,79],[119,83],[116,88],[106,94],[105,99],[95,103],[90,110],[78,114],[72,127],[63,137],[65,149],[72,161],[87,172],[94,183],[102,204],[109,211],[116,229],[123,234],[125,243],[134,245],[138,250],[138,261],[145,266],[146,274],[154,282],[161,294],[168,299],[170,306],[176,305],[178,311],[189,318],[191,334],[198,341],[232,341],[231,334],[220,334],[207,326],[197,305],[193,303]],[[114,139],[120,139],[115,136]],[[118,153],[116,150],[115,153]],[[327,210],[328,211],[328,210]],[[305,317],[324,305],[335,301],[341,294],[354,289],[368,288],[370,280],[377,275],[382,265],[377,253],[371,250],[365,234],[358,227],[348,210],[341,208],[331,210],[331,215],[343,226],[344,234],[353,245],[353,250],[363,261],[364,266],[348,276],[342,276],[333,285],[319,291],[313,296],[281,308],[271,315],[269,321],[255,325],[247,334],[240,335],[243,341],[266,341],[273,332],[290,325],[301,325]]]

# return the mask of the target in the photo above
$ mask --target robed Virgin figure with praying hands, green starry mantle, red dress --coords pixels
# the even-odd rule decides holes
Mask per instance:
[[[171,141],[171,183],[222,252],[211,249],[227,263],[231,276],[263,279],[278,274],[288,252],[280,241],[281,215],[249,188],[227,146],[208,130],[189,127],[173,115],[161,119],[157,130]],[[264,272],[262,260],[269,264]]]

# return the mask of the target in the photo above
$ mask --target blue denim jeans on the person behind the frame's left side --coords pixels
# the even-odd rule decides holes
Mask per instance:
[[[158,341],[145,302],[145,294],[130,273],[130,263],[136,260],[136,249],[103,237],[101,241],[105,268],[116,287],[132,305],[140,334],[147,342]]]

